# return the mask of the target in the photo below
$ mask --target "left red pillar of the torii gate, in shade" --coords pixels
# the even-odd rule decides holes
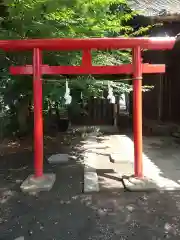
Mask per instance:
[[[34,169],[35,177],[43,175],[43,119],[42,119],[42,79],[41,50],[33,51],[33,91],[34,91]]]

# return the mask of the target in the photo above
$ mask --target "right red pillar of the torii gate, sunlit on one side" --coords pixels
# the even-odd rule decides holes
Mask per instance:
[[[133,49],[133,125],[134,125],[134,174],[143,177],[142,164],[142,62],[141,49]]]

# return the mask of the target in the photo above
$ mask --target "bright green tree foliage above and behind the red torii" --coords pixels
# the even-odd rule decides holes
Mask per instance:
[[[6,0],[5,11],[0,14],[0,39],[27,38],[88,38],[136,36],[149,29],[141,28],[134,32],[128,21],[137,13],[129,9],[126,0]],[[94,65],[119,65],[131,61],[130,51],[93,51]],[[1,108],[6,111],[8,105],[12,114],[22,99],[32,99],[32,81],[30,77],[10,76],[10,65],[31,64],[31,53],[1,53],[0,94]],[[80,52],[45,52],[44,63],[49,65],[78,65]],[[50,82],[44,76],[44,102],[47,98],[60,101],[64,95],[65,80],[68,76],[57,76]],[[61,80],[59,80],[61,79]],[[59,81],[58,81],[59,80]],[[92,76],[81,76],[70,80],[73,100],[80,92],[87,99],[101,96],[107,88],[107,81],[96,81]],[[113,84],[116,94],[131,91],[131,86]],[[44,104],[45,108],[47,104]],[[15,109],[12,111],[12,109]],[[9,110],[8,110],[9,111]]]

